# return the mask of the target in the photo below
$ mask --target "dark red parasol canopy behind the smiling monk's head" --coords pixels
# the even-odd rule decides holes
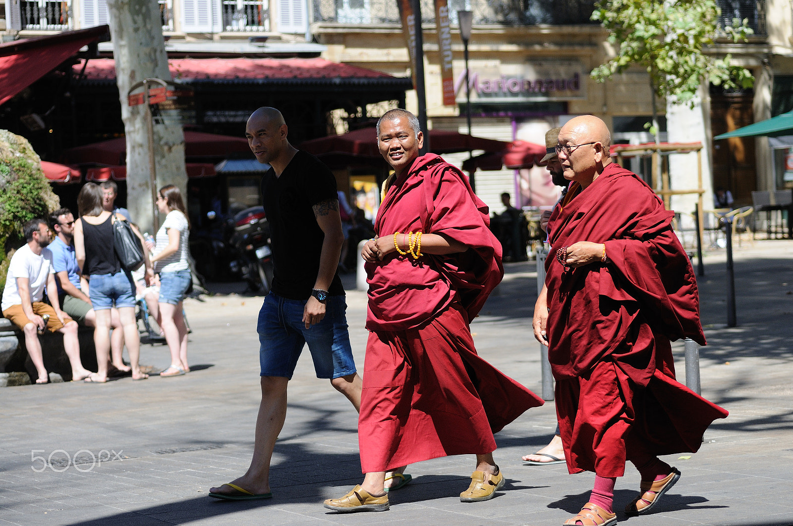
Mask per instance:
[[[502,141],[482,139],[456,131],[430,130],[429,135],[430,151],[434,154],[451,154],[469,150],[502,151],[508,145]],[[312,139],[301,143],[300,148],[319,158],[325,156],[338,158],[339,155],[347,155],[352,158],[382,158],[377,149],[375,128],[362,128],[343,135]]]

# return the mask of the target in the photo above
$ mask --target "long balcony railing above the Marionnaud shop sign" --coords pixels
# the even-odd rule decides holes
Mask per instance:
[[[457,12],[468,4],[476,25],[580,25],[593,24],[589,17],[594,0],[448,0],[449,18],[458,24]],[[421,0],[425,23],[435,20],[435,4]],[[315,0],[314,21],[339,24],[400,24],[395,0]]]

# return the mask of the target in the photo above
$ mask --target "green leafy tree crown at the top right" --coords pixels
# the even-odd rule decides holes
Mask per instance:
[[[631,65],[644,66],[657,97],[691,106],[705,79],[716,86],[749,88],[752,74],[734,66],[730,55],[716,59],[703,53],[717,36],[738,42],[753,33],[746,20],[720,28],[719,14],[714,0],[599,0],[592,20],[603,22],[608,41],[619,51],[592,77],[604,82]]]

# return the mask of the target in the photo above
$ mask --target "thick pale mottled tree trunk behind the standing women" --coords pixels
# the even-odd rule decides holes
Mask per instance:
[[[127,136],[127,208],[140,231],[153,233],[149,147],[144,105],[129,106],[128,91],[144,78],[170,81],[157,0],[108,0],[121,119]],[[156,186],[178,186],[187,202],[185,137],[182,125],[155,124]]]

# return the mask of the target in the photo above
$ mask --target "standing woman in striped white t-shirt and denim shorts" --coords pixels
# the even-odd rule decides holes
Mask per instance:
[[[187,326],[182,316],[182,300],[192,283],[188,257],[190,221],[182,192],[174,185],[159,189],[157,209],[167,214],[157,232],[151,262],[159,273],[159,315],[165,341],[170,349],[170,366],[160,376],[180,376],[190,372],[187,365]]]

